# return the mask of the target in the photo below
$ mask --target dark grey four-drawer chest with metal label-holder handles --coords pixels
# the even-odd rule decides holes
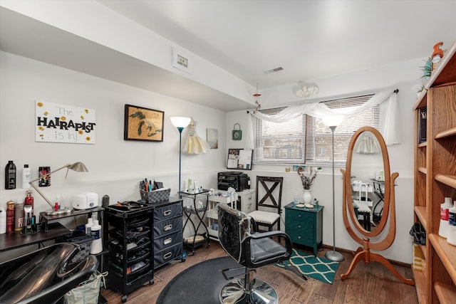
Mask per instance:
[[[182,256],[182,200],[170,198],[153,205],[154,268]]]

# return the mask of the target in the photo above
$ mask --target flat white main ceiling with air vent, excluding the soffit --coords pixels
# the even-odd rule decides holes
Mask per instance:
[[[260,89],[424,58],[456,38],[454,0],[98,1]]]

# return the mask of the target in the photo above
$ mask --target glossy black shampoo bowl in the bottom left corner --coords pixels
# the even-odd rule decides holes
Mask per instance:
[[[78,251],[56,243],[0,263],[0,303],[56,303],[97,269],[95,256],[68,265]]]

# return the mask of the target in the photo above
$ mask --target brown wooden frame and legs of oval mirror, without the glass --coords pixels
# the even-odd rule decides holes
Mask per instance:
[[[363,229],[363,226],[358,222],[356,218],[355,209],[353,208],[353,199],[351,194],[351,164],[353,158],[353,148],[355,147],[356,140],[360,137],[363,132],[369,131],[375,136],[378,140],[378,144],[380,145],[380,151],[382,153],[383,158],[383,172],[385,176],[385,194],[383,198],[383,215],[380,219],[380,223],[377,227],[375,227],[374,231],[366,231]],[[359,128],[353,137],[351,137],[350,144],[348,145],[348,153],[347,153],[347,161],[346,161],[346,169],[341,169],[342,177],[343,177],[343,224],[345,225],[348,234],[350,234],[351,238],[359,243],[362,247],[358,247],[356,251],[353,252],[353,261],[351,261],[350,267],[346,273],[341,274],[341,279],[344,280],[350,276],[350,273],[355,268],[356,264],[359,261],[364,261],[366,265],[371,261],[376,261],[382,263],[383,266],[388,268],[400,281],[406,283],[408,285],[415,285],[415,281],[404,278],[403,276],[395,270],[393,265],[391,265],[390,261],[386,258],[381,256],[379,253],[373,253],[372,250],[375,251],[383,251],[389,248],[395,239],[396,234],[396,214],[395,214],[395,179],[398,178],[398,172],[394,172],[390,174],[390,160],[388,157],[388,150],[385,144],[385,140],[383,140],[383,136],[373,127],[361,127]],[[385,236],[379,236],[380,240],[376,240],[376,242],[371,242],[369,239],[370,237],[378,236],[386,226],[386,222],[388,221],[388,217],[390,218],[389,226],[388,226],[388,233]],[[353,230],[353,226],[358,231],[358,233]],[[361,235],[361,236],[360,236]]]

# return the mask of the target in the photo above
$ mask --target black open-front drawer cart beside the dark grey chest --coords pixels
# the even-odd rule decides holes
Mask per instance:
[[[109,248],[107,286],[127,295],[154,283],[153,207],[129,201],[105,208],[105,246]]]

